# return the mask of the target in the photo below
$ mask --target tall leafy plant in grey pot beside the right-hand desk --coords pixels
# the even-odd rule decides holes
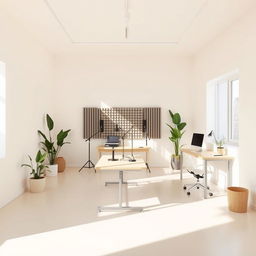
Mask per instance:
[[[171,158],[171,166],[173,170],[180,169],[180,140],[184,134],[182,131],[187,125],[185,122],[181,122],[181,117],[179,113],[173,114],[171,110],[169,110],[169,114],[172,120],[172,124],[167,124],[170,127],[171,136],[169,137],[170,141],[174,146],[174,154]]]

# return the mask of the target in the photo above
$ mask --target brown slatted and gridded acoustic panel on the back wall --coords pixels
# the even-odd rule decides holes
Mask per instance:
[[[147,121],[149,138],[161,138],[161,108],[84,108],[84,138],[99,130],[100,120],[104,121],[104,132],[94,136],[95,139],[122,136],[131,126],[134,139],[142,139],[145,137],[143,120]],[[131,138],[131,132],[126,138]]]

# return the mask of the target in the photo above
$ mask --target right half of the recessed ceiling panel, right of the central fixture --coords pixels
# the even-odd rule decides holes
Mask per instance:
[[[178,42],[206,0],[129,0],[129,40]]]

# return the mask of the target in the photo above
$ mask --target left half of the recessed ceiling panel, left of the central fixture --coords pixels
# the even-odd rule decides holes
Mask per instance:
[[[124,38],[121,0],[47,0],[73,42],[108,42]]]

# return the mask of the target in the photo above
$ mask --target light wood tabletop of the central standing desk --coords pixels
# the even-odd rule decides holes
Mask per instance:
[[[146,170],[147,166],[142,158],[136,158],[136,162],[129,162],[128,159],[120,160],[121,157],[116,156],[118,161],[109,161],[110,156],[102,156],[95,165],[96,170],[117,170],[117,171],[131,171],[131,170]]]

